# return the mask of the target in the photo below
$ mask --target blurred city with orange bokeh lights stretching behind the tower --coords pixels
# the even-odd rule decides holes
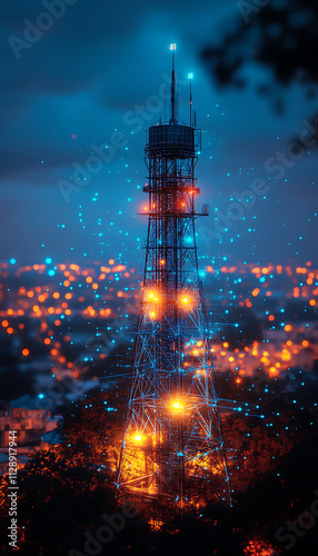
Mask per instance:
[[[16,354],[17,365],[33,364],[34,375],[49,367],[58,380],[67,374],[77,381],[77,365],[80,368],[85,358],[90,327],[91,334],[109,328],[110,341],[100,342],[100,353],[88,351],[95,361],[103,360],[120,342],[132,344],[140,298],[133,268],[113,259],[108,266],[18,267],[2,262],[0,267],[1,344],[7,353]],[[52,277],[50,268],[54,269]],[[297,365],[312,368],[317,358],[318,269],[312,268],[310,261],[304,267],[268,264],[262,268],[252,264],[217,267],[211,261],[203,271],[207,307],[213,309],[213,315],[218,311],[217,322],[209,319],[218,368],[249,377],[261,367],[271,379]],[[9,284],[12,284],[10,288]],[[102,299],[96,296],[99,288],[106,289]],[[229,296],[245,315],[256,317],[262,327],[257,339],[249,341],[242,337],[238,347],[230,338],[233,332],[240,332],[244,322],[238,327],[231,322],[229,328],[232,309],[223,310]],[[78,349],[81,356],[77,360]],[[97,378],[103,376],[101,369],[105,365]]]

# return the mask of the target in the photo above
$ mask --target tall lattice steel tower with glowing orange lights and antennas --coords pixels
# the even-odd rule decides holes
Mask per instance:
[[[198,507],[230,503],[230,488],[195,232],[209,209],[195,210],[201,137],[191,80],[190,125],[177,121],[170,49],[170,121],[150,127],[146,146],[146,265],[117,487],[126,497]]]

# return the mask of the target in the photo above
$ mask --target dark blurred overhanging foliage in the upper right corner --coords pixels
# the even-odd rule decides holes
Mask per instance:
[[[258,92],[268,95],[278,112],[284,110],[278,86],[287,87],[296,81],[302,86],[306,98],[317,97],[317,2],[272,0],[260,7],[260,2],[239,0],[237,7],[240,16],[235,31],[223,37],[220,44],[202,51],[202,59],[217,83],[247,86],[240,70],[257,62],[272,71],[272,83],[259,82]]]

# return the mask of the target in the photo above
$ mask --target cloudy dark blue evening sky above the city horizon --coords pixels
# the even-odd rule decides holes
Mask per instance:
[[[198,208],[209,202],[211,215],[216,208],[226,212],[233,190],[249,189],[257,178],[269,186],[266,199],[258,197],[245,209],[246,219],[223,232],[221,242],[207,239],[213,216],[198,224],[201,255],[315,261],[317,148],[276,181],[277,172],[265,169],[277,150],[299,139],[302,120],[315,116],[315,101],[305,99],[299,86],[287,88],[281,91],[285,115],[278,117],[256,92],[259,80],[271,80],[270,71],[249,66],[244,70],[247,89],[222,90],[202,61],[203,49],[217,44],[240,18],[236,2],[68,1],[73,4],[28,43],[31,48],[21,48],[20,59],[12,36],[24,40],[24,20],[34,23],[48,10],[34,0],[1,6],[1,260],[32,264],[51,257],[83,264],[113,257],[139,265],[146,219],[136,214],[146,201],[146,129],[165,115],[146,109],[139,128],[131,118],[158,96],[170,70],[169,43],[176,42],[180,119],[188,118],[188,85],[182,82],[191,71],[202,129]],[[125,146],[67,202],[59,180],[72,182],[73,165],[85,166],[91,146],[108,143],[115,130],[123,133]]]

